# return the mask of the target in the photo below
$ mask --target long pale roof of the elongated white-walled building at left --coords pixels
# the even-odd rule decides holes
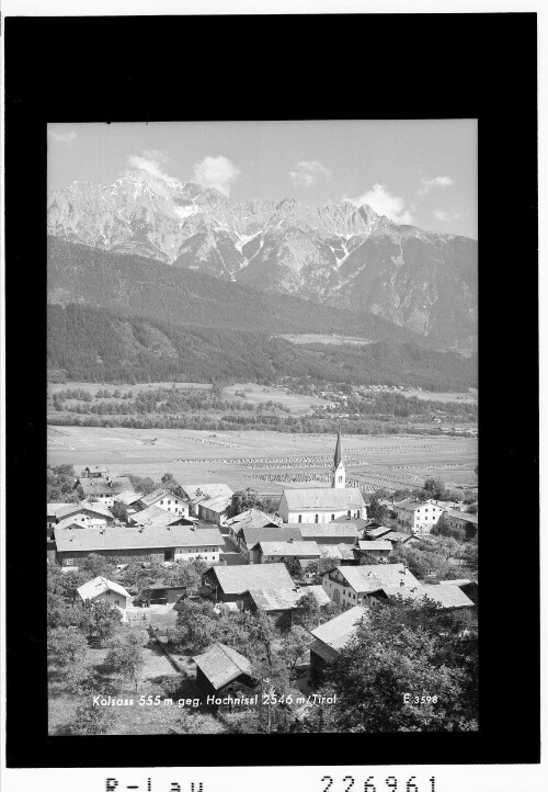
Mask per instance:
[[[60,531],[55,538],[59,553],[100,553],[103,550],[138,550],[153,547],[222,546],[224,540],[216,528],[191,525],[123,525],[94,531]],[[263,566],[263,565],[260,565]],[[269,566],[267,564],[264,566]],[[284,566],[282,564],[282,566]],[[229,567],[237,568],[237,567]],[[253,567],[251,567],[253,568]],[[285,566],[284,566],[285,569]]]

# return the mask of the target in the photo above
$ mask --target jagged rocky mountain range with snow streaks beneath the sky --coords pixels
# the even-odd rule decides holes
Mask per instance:
[[[350,202],[237,202],[128,171],[48,196],[48,233],[173,268],[368,313],[438,346],[473,347],[477,241],[392,223]]]

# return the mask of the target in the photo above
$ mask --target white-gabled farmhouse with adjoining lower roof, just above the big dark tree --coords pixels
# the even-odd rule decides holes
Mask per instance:
[[[322,575],[322,586],[333,602],[345,608],[398,596],[416,600],[427,597],[443,608],[473,606],[458,586],[421,584],[404,564],[336,566]]]

